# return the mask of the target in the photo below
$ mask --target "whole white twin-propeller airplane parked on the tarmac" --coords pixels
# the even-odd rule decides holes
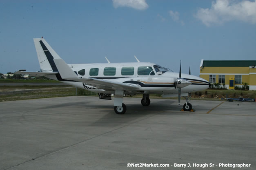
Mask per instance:
[[[163,94],[163,97],[186,96],[184,110],[191,110],[190,93],[209,87],[209,82],[194,75],[168,71],[151,62],[66,64],[43,38],[34,38],[40,63],[40,72],[17,71],[16,74],[45,76],[65,84],[83,88],[99,94],[100,99],[111,100],[114,94],[114,110],[124,114],[122,103],[124,94],[142,94],[141,104],[149,106],[150,94]]]

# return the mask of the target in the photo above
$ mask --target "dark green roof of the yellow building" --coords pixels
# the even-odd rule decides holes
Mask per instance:
[[[204,67],[249,67],[256,66],[256,60],[204,60]]]

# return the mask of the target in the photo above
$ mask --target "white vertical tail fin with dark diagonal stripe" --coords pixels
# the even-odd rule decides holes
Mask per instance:
[[[34,38],[36,53],[43,72],[58,72],[53,58],[60,59],[60,56],[51,48],[51,46],[43,38]]]

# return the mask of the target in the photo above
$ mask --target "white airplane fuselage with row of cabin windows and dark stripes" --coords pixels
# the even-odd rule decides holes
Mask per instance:
[[[69,66],[79,77],[136,84],[139,87],[136,91],[125,91],[125,94],[172,94],[178,91],[175,83],[177,77],[179,77],[179,73],[167,71],[163,74],[159,74],[154,68],[156,64],[150,62],[69,64]],[[149,71],[147,71],[147,69]],[[209,86],[209,83],[200,77],[183,73],[181,76],[192,82],[192,84],[183,88],[182,93],[201,91]],[[98,89],[82,82],[58,79],[56,75],[48,75],[47,77],[95,93],[115,92],[115,90],[111,88]]]

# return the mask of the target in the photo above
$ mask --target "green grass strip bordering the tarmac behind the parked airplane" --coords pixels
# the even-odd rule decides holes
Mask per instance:
[[[32,80],[33,81],[33,80]],[[68,85],[22,85],[22,86],[0,86],[0,102],[22,100],[22,99],[37,99],[48,97],[64,97],[76,95],[76,88]],[[98,96],[98,94],[77,88],[77,95]],[[228,98],[256,98],[256,91],[241,91],[241,90],[216,90],[207,89],[200,92],[192,93],[192,98],[195,100],[219,100],[222,97]],[[142,95],[134,95],[133,97],[142,98]],[[162,98],[161,95],[150,95],[150,98]],[[167,99],[178,99],[171,97]],[[182,97],[182,99],[184,99]]]

